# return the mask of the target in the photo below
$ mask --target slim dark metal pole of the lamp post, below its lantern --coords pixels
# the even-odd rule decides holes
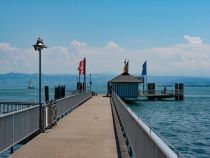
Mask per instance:
[[[41,123],[42,123],[42,121],[41,121],[41,113],[42,113],[42,103],[41,103],[41,59],[42,59],[42,57],[41,57],[41,49],[39,49],[39,126],[40,126],[40,129],[42,128],[41,127]]]

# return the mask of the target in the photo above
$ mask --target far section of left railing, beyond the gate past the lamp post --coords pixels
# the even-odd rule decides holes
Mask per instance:
[[[84,92],[69,97],[65,97],[56,101],[57,117],[65,115],[67,112],[76,108],[86,100],[92,97],[91,92]]]

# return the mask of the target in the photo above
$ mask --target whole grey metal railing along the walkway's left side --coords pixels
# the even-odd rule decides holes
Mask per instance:
[[[16,106],[18,107],[16,109],[18,111],[11,112],[11,110],[7,110],[7,112],[10,112],[0,115],[0,152],[13,147],[36,131],[44,131],[45,128],[56,123],[57,118],[67,114],[91,97],[91,92],[85,92],[59,99],[42,106],[41,122],[39,121],[39,105],[32,106],[32,104],[27,103],[16,104],[18,105]],[[2,109],[7,109],[5,108],[6,106],[4,107],[4,105],[6,105],[5,102],[4,104],[2,102],[0,105],[3,105]],[[7,106],[8,105],[12,107],[14,104],[7,104]],[[9,107],[8,109],[14,108]],[[39,123],[41,123],[41,125]]]

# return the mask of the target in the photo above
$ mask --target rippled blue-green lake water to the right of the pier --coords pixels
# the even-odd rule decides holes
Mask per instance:
[[[185,157],[210,157],[210,87],[186,87],[184,101],[139,101],[130,108]]]

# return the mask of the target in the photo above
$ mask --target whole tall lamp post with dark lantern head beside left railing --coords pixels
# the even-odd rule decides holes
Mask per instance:
[[[43,40],[41,38],[38,38],[36,41],[36,44],[33,45],[35,51],[39,52],[39,126],[42,130],[42,122],[41,122],[41,112],[42,112],[42,103],[41,103],[41,50],[43,48],[47,48],[46,45],[44,45]]]

